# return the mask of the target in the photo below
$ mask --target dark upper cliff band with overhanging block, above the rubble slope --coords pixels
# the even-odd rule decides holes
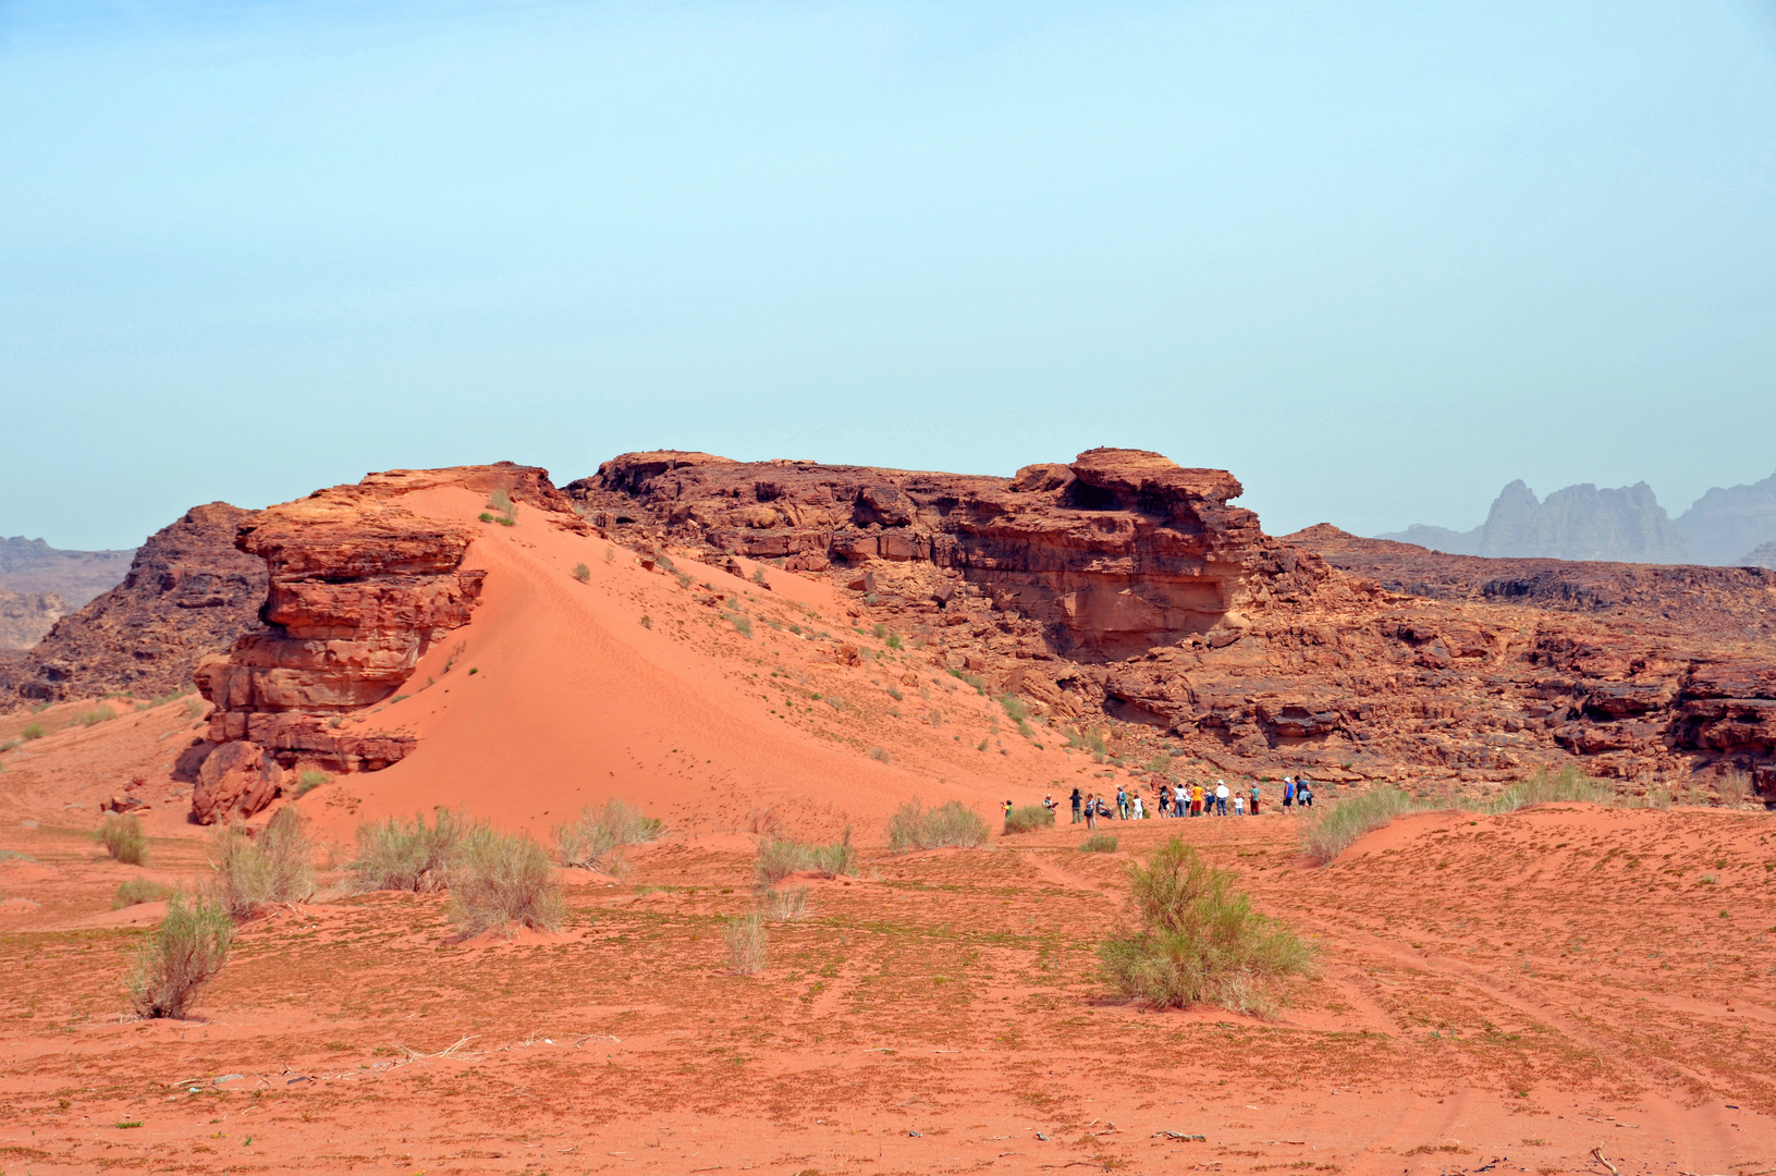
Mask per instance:
[[[954,568],[1078,661],[1236,631],[1254,600],[1327,579],[1318,558],[1229,506],[1240,492],[1225,471],[1142,449],[1092,449],[1014,478],[629,453],[567,487],[607,526],[646,520],[796,570]]]

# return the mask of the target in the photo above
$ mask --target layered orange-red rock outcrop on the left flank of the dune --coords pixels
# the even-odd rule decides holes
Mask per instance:
[[[263,808],[281,771],[375,771],[414,748],[410,735],[357,735],[339,719],[394,695],[481,595],[485,572],[462,567],[474,533],[400,503],[437,487],[510,494],[586,528],[547,471],[510,462],[369,474],[245,522],[236,544],[266,574],[265,624],[197,668],[218,744],[202,769],[213,782],[201,773],[192,796],[199,822]]]

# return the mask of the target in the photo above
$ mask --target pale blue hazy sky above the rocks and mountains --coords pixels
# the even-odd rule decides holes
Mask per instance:
[[[1776,469],[1776,4],[0,0],[0,535],[625,449]]]

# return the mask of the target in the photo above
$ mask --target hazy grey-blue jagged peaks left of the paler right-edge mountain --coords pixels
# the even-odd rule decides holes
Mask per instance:
[[[1536,499],[1522,481],[1499,492],[1487,520],[1472,531],[1412,526],[1380,538],[1419,544],[1462,556],[1618,560],[1685,563],[1689,545],[1652,487],[1620,490],[1584,483]]]

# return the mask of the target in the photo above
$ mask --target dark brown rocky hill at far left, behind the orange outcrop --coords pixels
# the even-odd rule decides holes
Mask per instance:
[[[234,549],[234,533],[250,517],[210,503],[156,531],[121,584],[57,620],[23,659],[0,668],[0,693],[23,705],[188,687],[201,657],[259,624],[265,563]]]

